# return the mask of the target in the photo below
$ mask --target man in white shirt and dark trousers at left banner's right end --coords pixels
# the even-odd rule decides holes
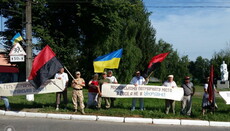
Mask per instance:
[[[67,106],[67,86],[68,86],[68,75],[64,72],[64,68],[61,68],[58,73],[56,73],[54,79],[60,79],[63,81],[63,86],[65,87],[63,92],[57,92],[56,93],[56,110],[59,110],[59,105],[61,103],[61,95],[64,99],[65,108]]]

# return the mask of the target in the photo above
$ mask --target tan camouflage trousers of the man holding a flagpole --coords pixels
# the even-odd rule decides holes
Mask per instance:
[[[72,101],[75,110],[77,110],[78,102],[79,102],[80,109],[84,109],[85,105],[84,105],[83,91],[74,89],[72,93]]]

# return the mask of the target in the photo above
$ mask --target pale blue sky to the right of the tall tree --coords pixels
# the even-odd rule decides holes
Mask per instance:
[[[180,56],[211,59],[230,43],[230,0],[143,0],[157,40]]]

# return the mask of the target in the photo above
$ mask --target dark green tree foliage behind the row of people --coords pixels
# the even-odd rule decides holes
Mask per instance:
[[[7,18],[2,34],[6,48],[9,40],[20,32],[25,34],[25,1],[2,0],[1,12]],[[166,80],[169,74],[180,84],[185,76],[201,83],[209,73],[210,61],[197,57],[190,61],[180,56],[170,43],[155,41],[150,12],[142,0],[36,0],[32,4],[34,49],[49,45],[59,60],[74,73],[79,70],[86,80],[93,75],[93,60],[123,48],[119,69],[114,69],[120,83],[129,83],[135,71],[144,72],[151,58],[170,52],[156,65],[153,76]],[[211,63],[219,69],[223,60],[230,64],[229,50],[214,55]],[[219,70],[215,74],[220,76]]]

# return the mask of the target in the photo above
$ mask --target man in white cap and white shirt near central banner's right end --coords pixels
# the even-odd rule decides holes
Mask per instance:
[[[177,84],[173,81],[173,75],[168,75],[168,80],[164,82],[162,86],[175,88]],[[175,94],[176,95],[176,94]],[[172,109],[173,114],[175,114],[175,101],[174,100],[165,100],[165,113],[168,114],[170,108]]]

